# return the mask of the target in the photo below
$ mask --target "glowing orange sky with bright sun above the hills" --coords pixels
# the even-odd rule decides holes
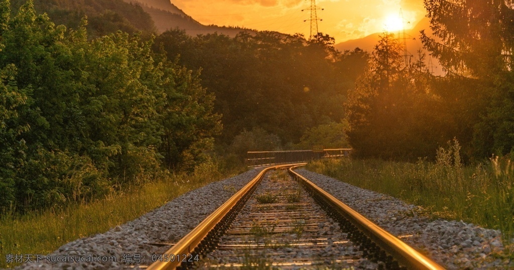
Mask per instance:
[[[310,31],[310,0],[171,0],[202,24],[242,26],[283,33]],[[336,43],[382,32],[391,17],[403,16],[413,27],[425,15],[423,0],[317,0],[318,30],[336,39]],[[388,19],[389,18],[389,19]],[[394,21],[394,20],[393,20]],[[398,21],[398,20],[397,20]],[[397,29],[393,29],[397,30]]]

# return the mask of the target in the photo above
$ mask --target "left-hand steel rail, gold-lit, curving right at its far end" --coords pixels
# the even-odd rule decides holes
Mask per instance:
[[[291,166],[303,166],[305,164],[306,163],[295,163],[265,168],[255,176],[252,181],[235,193],[227,202],[216,209],[216,211],[210,214],[205,220],[200,222],[200,224],[198,224],[198,226],[190,231],[185,237],[180,239],[173,247],[163,253],[162,256],[165,258],[163,261],[156,261],[147,269],[155,270],[177,268],[181,264],[180,258],[186,258],[188,255],[192,254],[194,249],[207,237],[208,233],[216,226],[216,224],[225,217],[225,215],[243,198],[243,196],[253,190],[267,171]],[[173,258],[173,260],[171,258]],[[179,259],[177,260],[175,258]]]

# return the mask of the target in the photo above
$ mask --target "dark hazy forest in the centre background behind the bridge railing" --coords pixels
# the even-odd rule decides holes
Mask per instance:
[[[367,65],[368,53],[341,53],[333,44],[321,33],[307,42],[302,35],[276,32],[193,38],[171,30],[159,35],[154,46],[201,70],[202,85],[215,94],[215,111],[223,115],[221,145],[260,127],[291,148],[308,129],[341,123],[342,104]]]

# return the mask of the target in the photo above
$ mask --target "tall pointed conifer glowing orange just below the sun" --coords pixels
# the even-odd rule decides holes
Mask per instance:
[[[396,141],[392,128],[399,120],[394,94],[402,85],[392,86],[402,82],[405,75],[402,63],[400,45],[393,34],[381,35],[366,75],[357,81],[355,91],[348,96],[348,140],[359,155],[393,155],[388,154]]]

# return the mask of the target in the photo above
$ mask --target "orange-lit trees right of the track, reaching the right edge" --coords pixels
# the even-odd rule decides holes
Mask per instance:
[[[442,43],[421,40],[446,76],[431,76],[419,53],[406,63],[390,33],[349,95],[348,139],[361,157],[415,160],[453,137],[466,160],[514,150],[514,6],[509,1],[425,1]]]

